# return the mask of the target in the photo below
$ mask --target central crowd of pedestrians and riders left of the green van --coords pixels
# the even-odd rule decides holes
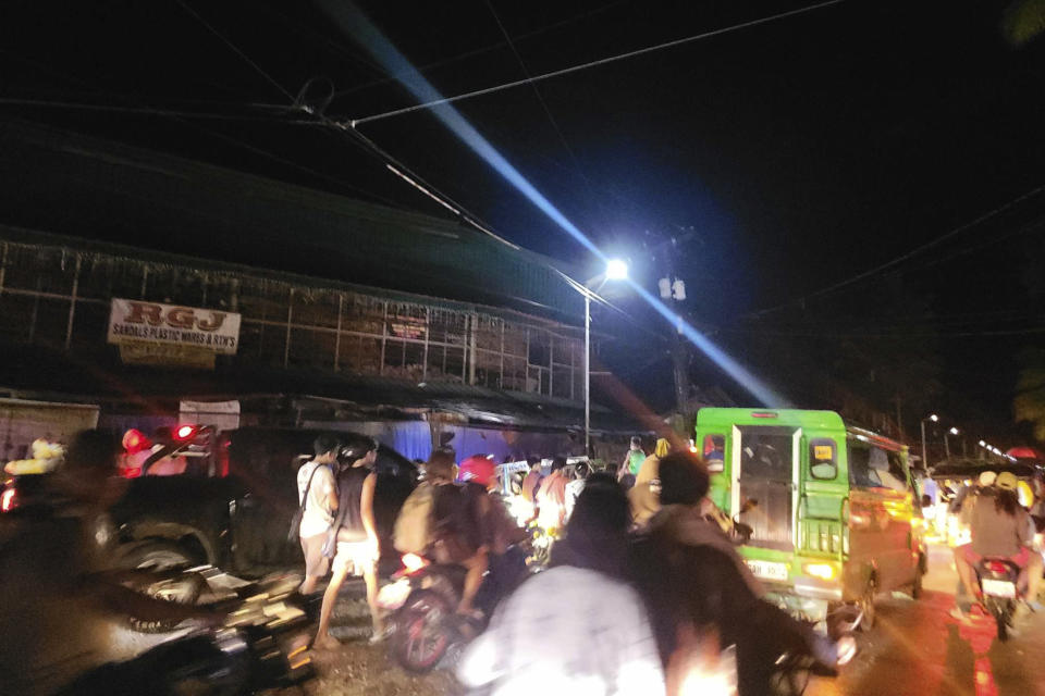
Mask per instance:
[[[368,483],[376,448],[355,446],[346,456],[345,446],[320,438],[316,458],[299,472],[303,592],[315,591],[331,554],[335,569],[319,648],[336,646],[328,632],[328,599],[349,571],[367,580],[373,639],[381,637],[372,601],[380,542]],[[639,461],[640,443],[634,442],[616,473],[592,472],[587,462],[568,465],[563,457],[553,458],[546,473],[540,460],[531,462],[517,495],[531,506],[536,524],[560,530],[562,538],[549,567],[504,598],[467,648],[458,667],[465,686],[507,695],[529,692],[538,680],[554,693],[681,694],[699,687],[743,696],[766,693],[783,652],[800,651],[827,666],[851,654],[852,645],[828,641],[762,599],[759,582],[709,514],[706,469],[688,450],[671,450],[667,439],[659,440]],[[330,472],[317,474],[320,467]],[[489,458],[472,456],[458,465],[452,450],[438,449],[422,475],[393,543],[401,552],[464,567],[457,612],[472,617],[479,587],[494,574],[488,571],[529,535],[509,513]],[[317,538],[322,524],[337,539],[334,549]],[[721,657],[727,646],[735,646],[732,662]]]

